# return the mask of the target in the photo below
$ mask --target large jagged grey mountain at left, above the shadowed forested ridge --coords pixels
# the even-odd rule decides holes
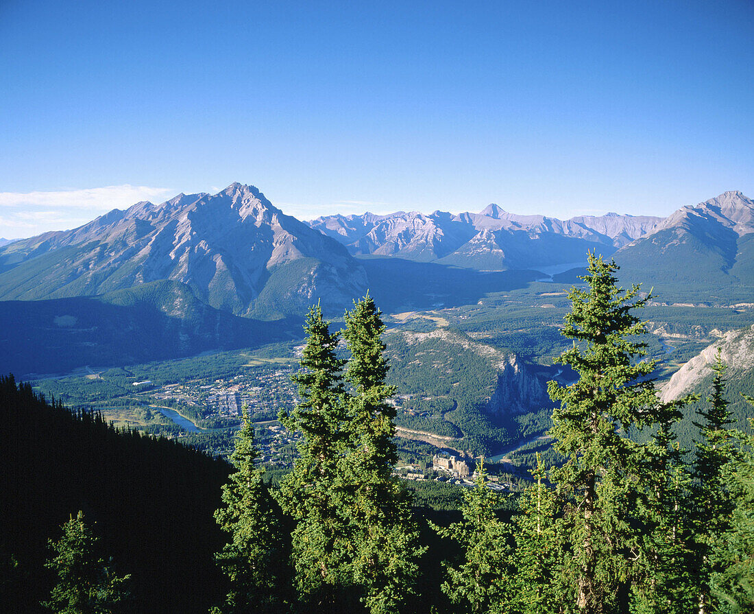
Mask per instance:
[[[216,195],[140,202],[72,231],[19,241],[0,251],[0,266],[3,299],[86,296],[168,279],[238,315],[253,312],[272,278],[292,312],[300,311],[297,301],[336,303],[366,290],[363,269],[342,245],[240,183]]]

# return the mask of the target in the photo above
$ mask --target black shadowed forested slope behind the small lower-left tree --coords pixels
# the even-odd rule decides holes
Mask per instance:
[[[213,519],[228,465],[166,439],[116,431],[0,377],[0,610],[41,612],[56,582],[48,539],[84,511],[105,558],[130,574],[127,612],[207,612],[218,593]]]

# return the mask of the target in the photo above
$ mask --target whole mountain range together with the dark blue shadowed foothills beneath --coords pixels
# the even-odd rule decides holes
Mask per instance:
[[[538,279],[576,282],[587,250],[615,257],[621,282],[643,281],[661,296],[750,302],[754,202],[725,192],[664,219],[557,220],[491,204],[302,223],[233,183],[0,247],[0,311],[14,323],[0,351],[12,363],[20,348],[38,346],[9,368],[39,371],[47,368],[35,361],[55,353],[70,358],[67,368],[255,345],[297,336],[293,323],[314,302],[339,315],[367,290],[398,312],[472,305]]]

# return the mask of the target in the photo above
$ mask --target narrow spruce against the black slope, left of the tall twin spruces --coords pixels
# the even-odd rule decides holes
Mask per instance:
[[[238,432],[231,463],[236,471],[222,487],[225,507],[215,512],[220,528],[232,541],[215,555],[231,582],[225,604],[214,614],[241,612],[280,612],[283,606],[284,545],[274,501],[256,468],[254,425],[243,407],[243,426]]]

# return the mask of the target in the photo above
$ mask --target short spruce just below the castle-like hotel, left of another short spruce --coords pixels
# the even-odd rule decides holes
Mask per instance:
[[[495,514],[499,495],[486,482],[482,465],[474,488],[464,492],[463,519],[447,528],[431,523],[441,537],[455,540],[464,552],[464,562],[458,567],[445,563],[448,579],[443,582],[443,592],[452,603],[474,614],[509,612],[505,606],[515,582],[510,526]]]

